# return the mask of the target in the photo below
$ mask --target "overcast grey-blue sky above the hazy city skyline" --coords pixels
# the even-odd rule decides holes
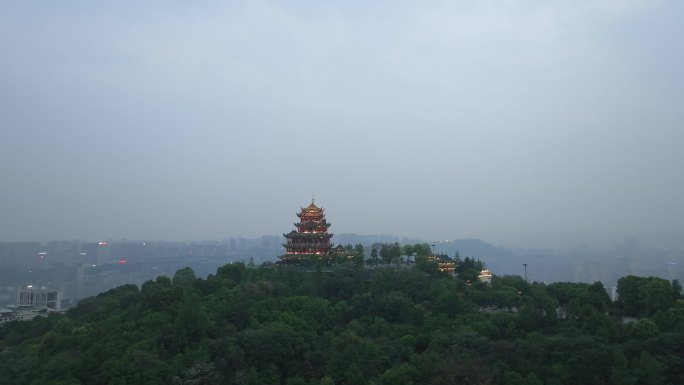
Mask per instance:
[[[682,233],[682,16],[2,1],[0,240]]]

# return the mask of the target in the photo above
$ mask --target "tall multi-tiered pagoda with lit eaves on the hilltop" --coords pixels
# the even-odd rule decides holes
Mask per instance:
[[[284,243],[285,254],[281,255],[280,263],[309,264],[311,262],[327,260],[330,258],[332,244],[328,233],[330,223],[325,220],[325,210],[316,206],[313,198],[311,204],[303,207],[297,214],[299,222],[295,223],[295,230],[283,234],[287,239]]]

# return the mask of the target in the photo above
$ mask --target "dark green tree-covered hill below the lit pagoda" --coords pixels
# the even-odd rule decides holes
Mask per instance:
[[[0,383],[684,384],[679,285],[630,276],[620,294],[419,269],[182,269],[0,327]]]

